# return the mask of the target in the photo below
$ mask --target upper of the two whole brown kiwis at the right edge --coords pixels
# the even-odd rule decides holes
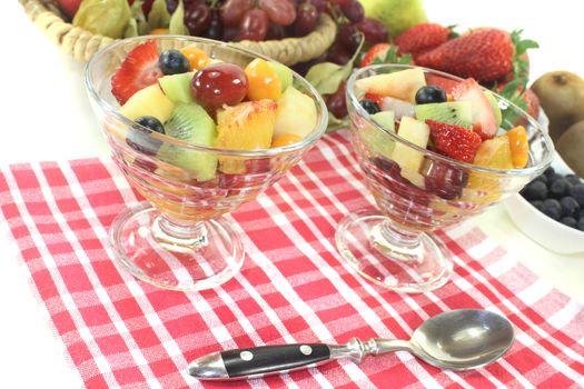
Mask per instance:
[[[584,80],[570,71],[543,74],[532,86],[550,118],[550,137],[555,141],[573,123],[584,120]]]

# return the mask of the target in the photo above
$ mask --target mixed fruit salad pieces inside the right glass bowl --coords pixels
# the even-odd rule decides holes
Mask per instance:
[[[418,148],[491,169],[522,169],[528,163],[525,128],[503,130],[496,98],[472,78],[456,81],[410,68],[358,79],[355,90],[375,122]],[[436,167],[420,151],[374,129],[363,136],[376,153],[399,166],[402,177],[418,187],[433,187],[427,172]],[[472,186],[473,177],[463,177],[459,187],[463,181]],[[462,190],[438,193],[452,199]]]

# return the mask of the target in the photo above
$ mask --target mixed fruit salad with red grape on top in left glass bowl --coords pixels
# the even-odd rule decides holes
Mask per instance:
[[[178,148],[166,137],[221,149],[258,150],[300,142],[317,108],[293,84],[291,71],[261,58],[241,67],[210,58],[197,44],[159,52],[155,40],[133,48],[111,78],[119,112],[135,124],[125,142],[197,181],[249,170],[240,157]]]

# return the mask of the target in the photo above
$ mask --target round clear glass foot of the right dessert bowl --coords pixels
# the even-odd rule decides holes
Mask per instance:
[[[343,260],[360,276],[399,292],[427,292],[445,285],[453,266],[444,245],[428,233],[403,232],[375,211],[343,219],[335,236]]]

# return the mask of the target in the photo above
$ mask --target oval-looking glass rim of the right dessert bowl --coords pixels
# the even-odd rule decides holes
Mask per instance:
[[[481,86],[481,88],[483,90],[488,90],[491,93],[493,93],[495,96],[495,98],[497,99],[497,101],[502,100],[506,104],[508,104],[509,107],[512,107],[513,109],[518,111],[522,116],[524,116],[527,119],[529,124],[532,124],[534,128],[537,129],[538,132],[542,133],[542,136],[543,136],[543,138],[545,140],[545,143],[546,143],[546,146],[550,149],[550,152],[548,152],[548,156],[546,156],[541,163],[532,166],[532,167],[522,168],[522,169],[515,169],[515,168],[514,169],[494,169],[494,168],[479,167],[479,166],[476,166],[476,164],[473,164],[473,163],[457,161],[457,160],[455,160],[453,158],[443,156],[443,154],[441,154],[438,152],[435,152],[435,151],[432,151],[432,150],[428,150],[428,149],[425,149],[425,148],[420,148],[419,146],[414,144],[410,141],[408,141],[407,139],[404,139],[404,138],[399,137],[397,133],[388,131],[384,126],[380,126],[379,123],[377,123],[375,120],[372,119],[370,114],[362,107],[362,104],[359,103],[359,100],[357,99],[357,97],[354,93],[355,82],[357,81],[358,77],[362,76],[363,73],[367,72],[367,71],[370,71],[370,70],[379,70],[379,69],[414,69],[414,68],[420,68],[422,70],[424,70],[425,73],[434,73],[434,74],[442,76],[442,77],[445,77],[445,78],[448,78],[448,79],[452,79],[452,80],[464,81],[464,79],[461,78],[461,77],[457,77],[457,76],[454,76],[454,74],[451,74],[451,73],[446,73],[446,72],[443,72],[443,71],[439,71],[439,70],[434,70],[434,69],[430,69],[430,68],[424,68],[424,67],[418,67],[418,66],[413,66],[413,64],[382,63],[382,64],[368,66],[368,67],[355,70],[350,74],[348,80],[347,80],[346,98],[347,98],[348,102],[353,106],[353,108],[359,113],[359,116],[363,119],[365,119],[367,121],[368,124],[373,126],[377,130],[380,130],[380,131],[385,132],[394,141],[398,141],[400,143],[404,143],[407,147],[409,147],[409,148],[412,148],[414,150],[417,150],[417,151],[422,152],[425,156],[429,156],[433,160],[437,159],[439,161],[447,162],[447,163],[449,163],[449,164],[452,164],[454,167],[462,168],[462,169],[471,169],[471,170],[474,170],[474,171],[492,173],[492,174],[501,174],[501,176],[532,176],[532,174],[536,174],[536,173],[543,171],[545,169],[545,167],[550,166],[550,163],[552,162],[552,160],[554,158],[555,148],[554,148],[554,143],[552,141],[552,138],[550,138],[550,134],[543,130],[543,128],[540,124],[540,122],[535,118],[529,116],[527,112],[525,112],[523,109],[517,107],[515,103],[513,103],[512,101],[505,99],[501,94],[498,94],[496,92],[493,92],[492,90],[486,89],[486,88],[484,88],[482,86]]]

